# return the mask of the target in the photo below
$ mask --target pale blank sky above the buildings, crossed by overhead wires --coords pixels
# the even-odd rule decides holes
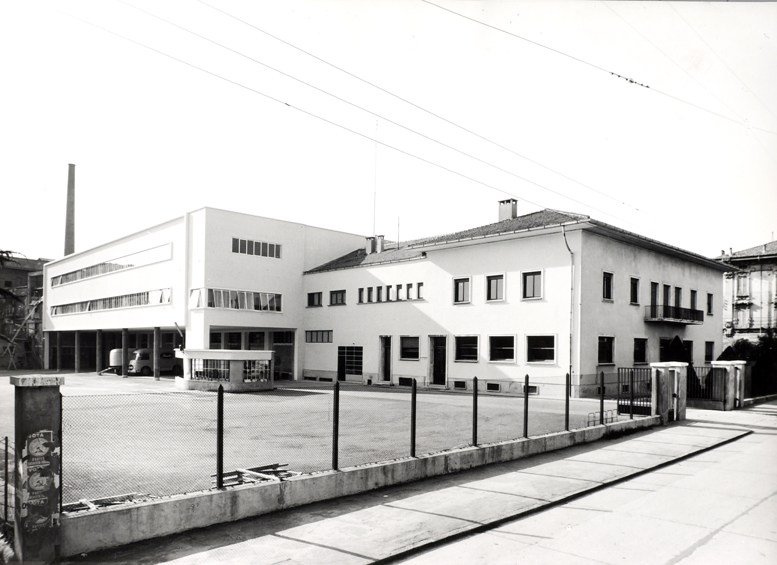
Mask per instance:
[[[777,232],[775,70],[772,2],[2,0],[0,249],[61,258],[75,163],[76,251],[202,206],[406,240],[510,197],[737,251]]]

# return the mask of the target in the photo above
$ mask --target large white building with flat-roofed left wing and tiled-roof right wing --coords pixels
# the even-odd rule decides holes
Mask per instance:
[[[559,397],[570,366],[593,396],[675,336],[697,365],[720,352],[725,265],[579,214],[499,214],[397,245],[197,210],[46,265],[45,329],[129,328],[141,347],[176,322],[189,348],[274,350],[276,379],[504,391],[528,374]]]

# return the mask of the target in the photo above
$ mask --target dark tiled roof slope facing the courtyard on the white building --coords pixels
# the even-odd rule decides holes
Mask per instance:
[[[570,212],[559,212],[559,210],[540,210],[510,220],[502,220],[495,224],[486,226],[472,227],[469,230],[457,231],[453,234],[436,235],[434,237],[422,237],[410,241],[401,241],[398,244],[389,243],[380,253],[367,254],[364,248],[351,251],[342,257],[333,259],[333,261],[319,265],[314,269],[306,271],[307,273],[335,271],[337,269],[350,269],[352,267],[362,267],[366,265],[378,265],[381,263],[391,263],[398,261],[409,261],[410,259],[421,258],[426,255],[423,248],[427,245],[443,244],[452,241],[462,241],[466,239],[477,239],[489,235],[511,234],[515,231],[535,229],[538,227],[557,226],[580,220],[590,220],[590,217],[583,214]],[[366,244],[366,242],[365,242]]]

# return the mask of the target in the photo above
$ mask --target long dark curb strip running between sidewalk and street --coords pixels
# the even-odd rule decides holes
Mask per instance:
[[[685,459],[688,459],[689,457],[695,457],[699,455],[700,453],[708,452],[711,449],[717,449],[721,445],[726,445],[730,442],[735,442],[738,439],[744,438],[747,435],[750,435],[753,433],[752,430],[743,430],[742,433],[739,435],[734,436],[733,438],[724,439],[721,442],[716,443],[715,445],[709,445],[708,447],[702,447],[701,449],[696,450],[695,452],[688,453],[684,456],[679,456],[676,459],[672,459],[671,461],[665,461],[664,463],[658,463],[655,466],[650,467],[649,469],[643,469],[636,471],[636,473],[632,473],[630,475],[627,475],[625,477],[618,477],[616,479],[608,480],[605,483],[599,484],[596,487],[591,487],[586,490],[581,490],[579,492],[569,494],[566,497],[559,498],[555,501],[549,501],[547,504],[543,504],[541,506],[537,506],[535,508],[528,508],[526,510],[522,510],[519,512],[516,512],[513,515],[504,516],[503,518],[497,518],[495,520],[492,520],[490,522],[486,522],[479,525],[473,525],[472,528],[465,529],[463,531],[455,532],[449,536],[443,536],[439,539],[431,539],[427,542],[421,542],[420,545],[414,546],[408,549],[402,549],[402,551],[399,551],[398,553],[394,553],[391,556],[381,557],[378,560],[371,561],[371,565],[384,565],[384,563],[395,563],[396,560],[404,559],[409,556],[416,555],[417,553],[424,553],[428,551],[429,549],[433,549],[437,546],[442,546],[445,544],[448,544],[450,542],[456,541],[457,539],[463,539],[468,536],[472,536],[474,534],[482,533],[482,532],[488,532],[489,530],[492,530],[496,528],[497,526],[500,526],[507,522],[512,522],[513,520],[517,518],[524,518],[525,516],[529,516],[532,514],[536,514],[538,512],[542,512],[545,510],[549,510],[549,508],[555,508],[556,506],[561,506],[563,504],[566,504],[567,502],[576,500],[577,498],[584,497],[587,494],[591,494],[594,492],[597,492],[598,490],[603,490],[605,488],[611,487],[615,484],[623,483],[626,480],[631,480],[634,477],[640,477],[646,473],[652,473],[653,471],[657,469],[662,469],[666,466],[674,465],[674,463],[678,463],[678,461],[683,461]]]

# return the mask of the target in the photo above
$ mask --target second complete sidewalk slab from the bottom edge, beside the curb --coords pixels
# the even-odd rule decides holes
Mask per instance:
[[[450,487],[389,502],[386,505],[484,524],[514,516],[518,512],[537,508],[542,504],[545,503],[536,498],[515,494]]]

